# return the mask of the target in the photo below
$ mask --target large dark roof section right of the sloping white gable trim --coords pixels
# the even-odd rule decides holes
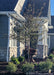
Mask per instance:
[[[47,17],[49,1],[50,0],[28,0],[24,13],[33,14],[34,16]]]

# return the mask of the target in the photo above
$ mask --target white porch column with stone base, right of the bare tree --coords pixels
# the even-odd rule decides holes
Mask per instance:
[[[48,50],[48,45],[47,45],[47,31],[48,28],[45,27],[48,26],[48,23],[43,24],[41,26],[40,31],[38,32],[38,45],[37,45],[37,58],[45,58],[47,57],[47,50]]]

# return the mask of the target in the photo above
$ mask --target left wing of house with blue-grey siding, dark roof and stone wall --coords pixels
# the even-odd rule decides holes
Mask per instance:
[[[13,28],[16,22],[21,24],[25,21],[25,18],[20,15],[24,1],[0,0],[0,61],[9,61],[12,56],[17,57],[17,40],[15,39],[17,34]]]

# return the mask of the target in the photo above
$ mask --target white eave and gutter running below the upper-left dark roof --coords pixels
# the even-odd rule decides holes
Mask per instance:
[[[14,18],[16,18],[17,20],[21,20],[22,22],[25,22],[25,18],[21,15],[18,14],[15,11],[0,11],[0,15],[12,15]]]

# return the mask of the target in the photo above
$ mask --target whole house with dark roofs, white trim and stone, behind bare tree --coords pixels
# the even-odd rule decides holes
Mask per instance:
[[[24,13],[27,14],[26,8],[30,9],[29,4],[32,5],[29,14],[34,16],[34,20],[38,17],[37,23],[40,23],[38,34],[43,32],[38,36],[36,57],[47,57],[49,49],[53,48],[51,41],[54,32],[51,24],[50,0],[0,0],[0,61],[8,62],[12,56],[17,57],[22,54],[24,45],[16,39],[19,31],[15,26],[16,23],[22,25],[22,22],[25,22]]]

